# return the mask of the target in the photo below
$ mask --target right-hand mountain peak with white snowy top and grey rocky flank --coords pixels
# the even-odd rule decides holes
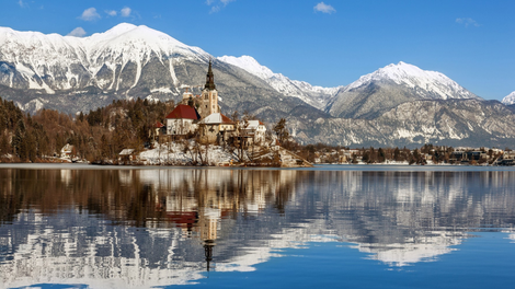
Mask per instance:
[[[370,119],[404,102],[456,99],[482,100],[440,72],[401,61],[342,88],[327,112],[336,117]]]

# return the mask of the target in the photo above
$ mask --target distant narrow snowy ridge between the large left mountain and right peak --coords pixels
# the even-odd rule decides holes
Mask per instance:
[[[270,68],[260,65],[253,57],[247,55],[241,57],[222,56],[218,57],[218,60],[242,68],[247,72],[266,81],[277,92],[299,97],[319,109],[322,109],[329,100],[342,88],[313,86],[306,81],[290,80],[281,73],[274,73]]]

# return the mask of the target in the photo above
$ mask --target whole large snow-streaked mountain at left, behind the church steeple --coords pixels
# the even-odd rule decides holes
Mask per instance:
[[[88,112],[130,97],[178,101],[182,85],[205,83],[209,59],[221,106],[229,111],[267,103],[275,107],[267,115],[282,115],[299,105],[311,107],[198,47],[127,23],[84,38],[0,27],[0,94],[28,112]]]

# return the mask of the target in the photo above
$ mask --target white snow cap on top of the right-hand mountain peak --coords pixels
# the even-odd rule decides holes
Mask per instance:
[[[399,85],[417,89],[417,93],[423,94],[424,99],[480,99],[440,72],[422,70],[402,61],[363,76],[345,90],[354,90],[375,81],[393,81]]]

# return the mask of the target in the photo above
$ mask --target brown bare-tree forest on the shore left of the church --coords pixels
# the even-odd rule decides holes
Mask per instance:
[[[75,116],[45,108],[31,115],[0,99],[0,161],[53,162],[67,143],[73,157],[88,162],[116,158],[127,147],[142,150],[151,127],[173,107],[138,99]]]

